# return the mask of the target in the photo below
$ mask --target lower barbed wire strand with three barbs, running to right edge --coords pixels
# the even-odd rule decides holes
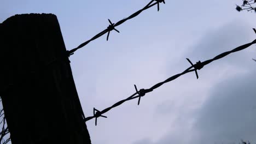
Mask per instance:
[[[182,73],[173,75],[173,76],[169,77],[168,79],[166,79],[165,81],[159,82],[159,83],[157,83],[156,85],[150,87],[149,89],[144,89],[144,88],[143,88],[143,89],[139,89],[139,91],[138,91],[137,86],[134,85],[136,92],[133,93],[130,97],[128,97],[128,98],[126,98],[126,99],[123,99],[123,100],[120,100],[120,101],[118,101],[118,103],[115,103],[114,105],[112,105],[112,106],[110,106],[110,107],[107,107],[106,109],[104,109],[104,110],[102,110],[102,111],[99,111],[99,110],[95,109],[95,107],[94,107],[94,116],[86,117],[86,118],[84,119],[84,121],[86,122],[86,121],[89,121],[89,120],[92,119],[92,118],[95,118],[95,125],[97,125],[97,118],[98,118],[98,117],[107,118],[106,116],[102,116],[103,113],[106,113],[106,112],[108,112],[109,110],[113,109],[114,107],[117,107],[117,106],[119,106],[119,105],[125,103],[125,101],[129,101],[129,100],[136,99],[136,98],[138,98],[138,105],[139,105],[139,102],[140,102],[140,100],[141,100],[141,97],[145,96],[147,93],[152,92],[154,89],[156,89],[156,88],[158,88],[158,87],[164,85],[164,83],[171,82],[171,81],[177,79],[179,76],[182,76],[182,75],[184,75],[184,74],[190,73],[190,72],[192,72],[192,71],[195,71],[196,78],[198,79],[199,76],[198,76],[198,74],[197,74],[197,70],[202,69],[205,65],[207,65],[207,64],[209,64],[209,63],[211,63],[211,62],[213,62],[213,61],[216,61],[216,60],[218,60],[218,59],[220,59],[220,58],[223,58],[223,57],[225,57],[225,56],[228,56],[230,53],[233,53],[233,52],[237,52],[237,51],[241,51],[241,50],[243,50],[243,49],[246,49],[247,47],[249,47],[249,46],[251,46],[251,45],[253,45],[253,44],[255,44],[255,43],[256,43],[256,39],[255,39],[254,41],[252,41],[251,43],[238,46],[238,47],[236,47],[235,49],[233,49],[233,50],[231,50],[231,51],[223,52],[223,53],[221,53],[220,55],[218,55],[218,56],[216,56],[216,57],[214,57],[214,58],[212,58],[212,59],[208,59],[208,60],[206,60],[206,61],[204,61],[204,62],[200,62],[200,61],[199,61],[199,62],[196,62],[196,64],[193,64],[193,63],[190,61],[190,59],[187,58],[187,61],[191,64],[191,66],[190,66],[189,68],[185,69]],[[194,69],[192,69],[192,68],[194,68]],[[96,113],[95,113],[95,111],[96,111]]]

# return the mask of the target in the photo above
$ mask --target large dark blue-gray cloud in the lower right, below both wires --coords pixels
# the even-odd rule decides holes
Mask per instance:
[[[194,116],[177,119],[175,132],[170,130],[155,142],[143,139],[135,143],[237,143],[241,139],[256,142],[255,72],[256,63],[249,73],[217,83]],[[165,106],[158,108],[167,109]],[[186,121],[193,118],[195,122],[190,128]]]

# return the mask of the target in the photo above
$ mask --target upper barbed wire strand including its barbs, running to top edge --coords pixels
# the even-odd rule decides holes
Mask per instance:
[[[156,2],[153,3],[154,1],[156,1]],[[92,40],[95,40],[95,39],[97,39],[97,38],[100,38],[102,35],[104,35],[104,34],[106,34],[106,33],[108,33],[108,34],[107,34],[107,40],[108,40],[109,33],[110,33],[111,31],[114,30],[114,31],[116,31],[116,32],[119,33],[119,31],[118,31],[117,29],[115,29],[115,27],[121,25],[122,23],[124,23],[124,22],[127,21],[127,20],[132,19],[133,17],[136,17],[136,16],[139,15],[142,11],[151,8],[151,7],[153,7],[153,6],[156,5],[156,4],[158,5],[158,11],[159,11],[159,7],[160,7],[159,5],[160,5],[160,3],[164,3],[164,4],[165,4],[165,0],[152,0],[152,1],[150,1],[144,8],[142,8],[141,10],[136,11],[135,13],[133,13],[132,15],[130,15],[129,17],[126,17],[125,19],[120,20],[120,21],[118,21],[117,23],[112,23],[112,22],[108,19],[108,22],[110,23],[110,25],[109,25],[106,29],[104,29],[102,32],[96,34],[96,35],[95,35],[94,37],[92,37],[91,39],[89,39],[89,40],[85,41],[84,43],[80,44],[78,47],[76,47],[76,48],[74,48],[74,49],[72,49],[72,50],[70,50],[70,51],[67,51],[67,55],[68,55],[68,56],[73,55],[75,51],[77,51],[78,49],[81,49],[81,48],[84,47],[85,45],[89,44]]]

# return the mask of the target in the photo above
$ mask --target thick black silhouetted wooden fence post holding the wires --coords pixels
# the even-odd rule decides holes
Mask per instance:
[[[13,144],[91,143],[55,15],[15,15],[0,23],[0,62]]]

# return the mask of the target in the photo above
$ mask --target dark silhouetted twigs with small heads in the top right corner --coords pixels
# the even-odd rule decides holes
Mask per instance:
[[[236,5],[236,10],[237,11],[242,11],[242,10],[247,10],[247,11],[254,11],[256,13],[256,0],[243,0],[241,5]]]

